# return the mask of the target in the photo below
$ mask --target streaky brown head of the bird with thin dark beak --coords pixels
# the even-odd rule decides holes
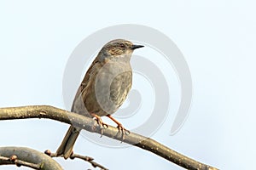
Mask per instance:
[[[134,49],[143,48],[124,39],[115,39],[108,42],[99,53],[101,59],[127,59],[130,60]]]

